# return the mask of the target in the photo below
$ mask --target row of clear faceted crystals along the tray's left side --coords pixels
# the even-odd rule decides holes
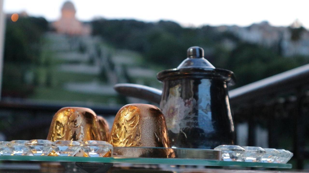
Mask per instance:
[[[13,140],[0,142],[0,155],[33,155],[33,156],[79,156],[103,157],[112,145],[105,141],[76,141],[58,140],[55,142],[43,139]]]

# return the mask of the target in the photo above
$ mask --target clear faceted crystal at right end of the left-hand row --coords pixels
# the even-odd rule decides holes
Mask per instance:
[[[112,149],[112,145],[106,141],[85,141],[80,146],[88,157],[103,157]]]

